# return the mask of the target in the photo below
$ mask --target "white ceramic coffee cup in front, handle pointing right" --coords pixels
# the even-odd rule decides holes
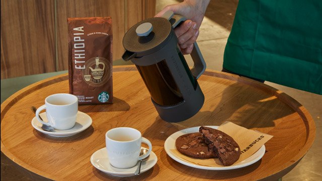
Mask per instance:
[[[152,150],[151,142],[133,128],[111,129],[106,132],[105,139],[107,156],[111,165],[116,168],[131,168],[138,160],[146,158]],[[149,151],[140,156],[142,142],[148,145]]]

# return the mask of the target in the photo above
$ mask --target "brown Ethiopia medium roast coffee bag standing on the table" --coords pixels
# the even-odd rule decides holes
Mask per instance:
[[[68,18],[69,93],[78,104],[113,103],[112,19]]]

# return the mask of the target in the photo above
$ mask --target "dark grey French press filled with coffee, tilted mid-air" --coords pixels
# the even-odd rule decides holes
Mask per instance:
[[[194,67],[190,70],[174,32],[185,20],[168,11],[163,17],[135,24],[123,38],[123,60],[135,64],[159,116],[171,123],[192,117],[204,103],[197,79],[206,63],[195,42],[191,53]]]

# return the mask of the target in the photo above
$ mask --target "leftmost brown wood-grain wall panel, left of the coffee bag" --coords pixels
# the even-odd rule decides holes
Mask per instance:
[[[1,79],[56,71],[54,1],[1,1]]]

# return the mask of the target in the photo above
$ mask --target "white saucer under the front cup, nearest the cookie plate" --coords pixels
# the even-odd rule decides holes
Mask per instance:
[[[150,157],[146,161],[142,161],[141,173],[152,168],[155,165],[156,161],[157,161],[157,157],[155,153],[151,151]],[[112,174],[114,176],[133,176],[134,172],[136,171],[137,167],[140,164],[138,162],[135,166],[131,168],[126,168],[126,169],[115,168],[110,164],[109,157],[107,156],[106,147],[93,153],[93,155],[91,156],[91,163],[97,169],[105,173]]]

